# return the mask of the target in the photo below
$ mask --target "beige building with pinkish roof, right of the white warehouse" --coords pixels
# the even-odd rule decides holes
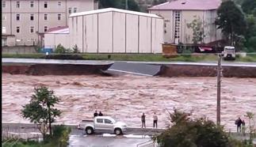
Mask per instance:
[[[172,0],[149,9],[164,18],[165,43],[193,43],[193,29],[188,24],[201,22],[204,37],[201,43],[221,40],[221,31],[217,29],[216,9],[220,0]]]

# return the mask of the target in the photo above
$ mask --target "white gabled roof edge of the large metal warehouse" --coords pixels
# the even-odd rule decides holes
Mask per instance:
[[[128,13],[128,14],[139,15],[139,16],[144,16],[144,17],[162,18],[162,17],[159,17],[152,13],[140,13],[140,12],[136,12],[136,11],[130,11],[130,10],[125,10],[125,9],[116,9],[116,8],[96,9],[96,10],[80,12],[80,13],[71,13],[71,15],[69,17],[78,17],[78,16],[83,16],[83,15],[91,15],[91,14],[95,14],[95,13],[107,13],[107,12],[119,12],[119,13]]]

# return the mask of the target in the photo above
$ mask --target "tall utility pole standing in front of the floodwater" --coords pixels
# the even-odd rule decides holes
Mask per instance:
[[[220,125],[220,77],[221,77],[221,58],[219,54],[218,57],[218,69],[217,69],[217,125]]]

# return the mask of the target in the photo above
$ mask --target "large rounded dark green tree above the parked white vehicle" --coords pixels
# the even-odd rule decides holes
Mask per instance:
[[[231,45],[234,45],[236,36],[244,35],[246,21],[241,9],[230,0],[221,3],[217,9],[216,25],[228,36]]]

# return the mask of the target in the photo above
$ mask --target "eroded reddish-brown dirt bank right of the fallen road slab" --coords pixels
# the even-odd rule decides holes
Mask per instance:
[[[162,66],[162,77],[216,77],[216,66]],[[223,66],[223,77],[256,77],[255,67]]]

